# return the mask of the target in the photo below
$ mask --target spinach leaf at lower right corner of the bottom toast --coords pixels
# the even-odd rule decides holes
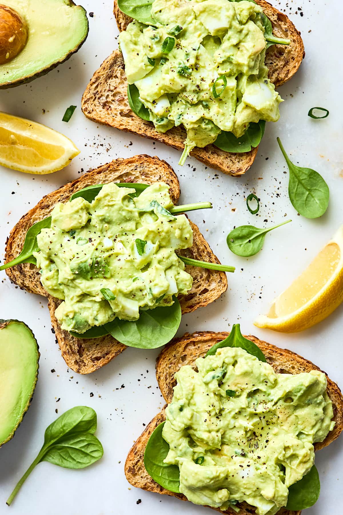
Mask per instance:
[[[288,489],[286,508],[294,511],[310,508],[318,501],[319,493],[319,474],[316,467],[313,465],[310,472]]]

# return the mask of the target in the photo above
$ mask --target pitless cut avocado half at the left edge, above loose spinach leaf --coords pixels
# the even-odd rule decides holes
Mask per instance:
[[[0,447],[13,438],[38,379],[39,347],[19,320],[0,320]]]

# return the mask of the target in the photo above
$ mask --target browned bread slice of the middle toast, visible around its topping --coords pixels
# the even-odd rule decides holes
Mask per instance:
[[[92,184],[107,182],[140,182],[153,184],[163,181],[169,184],[170,196],[177,203],[180,196],[180,186],[174,170],[165,161],[146,155],[134,156],[129,159],[116,159],[109,164],[91,170],[75,181],[69,182],[55,192],[43,197],[10,232],[6,244],[6,261],[12,261],[22,250],[27,230],[37,221],[49,216],[57,202],[67,202],[73,193]],[[193,246],[180,251],[189,258],[219,263],[208,243],[195,224],[190,222],[193,229]],[[179,296],[182,313],[190,313],[197,307],[203,307],[218,299],[227,288],[224,272],[186,266],[193,277],[192,289],[185,296]],[[71,336],[63,331],[55,317],[59,300],[48,295],[40,282],[40,274],[35,265],[24,263],[7,268],[10,280],[30,293],[43,295],[48,298],[52,327],[55,330],[57,342],[62,356],[69,368],[80,374],[88,374],[106,365],[126,347],[110,335],[94,339],[82,339]]]

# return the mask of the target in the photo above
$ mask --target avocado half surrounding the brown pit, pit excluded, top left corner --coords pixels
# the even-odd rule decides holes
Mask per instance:
[[[13,18],[14,27],[8,29],[8,39],[20,38],[23,30],[28,33],[20,52],[13,58],[8,53],[9,60],[0,64],[0,89],[48,73],[75,54],[88,35],[86,11],[71,0],[0,0],[0,5],[18,15]],[[18,19],[24,26],[18,26]]]

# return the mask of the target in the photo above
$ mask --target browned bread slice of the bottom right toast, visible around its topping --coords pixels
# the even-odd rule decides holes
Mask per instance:
[[[196,358],[204,356],[210,347],[218,341],[222,341],[228,336],[228,334],[229,333],[226,332],[186,333],[181,338],[174,338],[170,344],[161,351],[156,362],[156,377],[158,386],[167,403],[172,401],[173,387],[176,384],[174,375],[179,368],[183,365],[194,366]],[[265,341],[259,340],[256,336],[245,337],[260,347],[267,362],[269,365],[272,365],[277,373],[295,374],[300,372],[309,372],[310,370],[320,370],[316,365],[299,356],[295,352],[279,349],[274,345],[270,345]],[[314,447],[316,451],[329,445],[329,443],[334,441],[343,430],[343,397],[336,383],[331,381],[328,376],[327,381],[327,391],[333,404],[334,420],[336,424],[334,429],[330,431],[323,442],[315,443]],[[144,452],[150,435],[157,425],[165,419],[166,416],[164,408],[147,425],[145,431],[143,431],[136,440],[125,462],[125,475],[129,483],[137,488],[161,494],[173,495],[178,497],[178,499],[187,501],[183,494],[170,492],[155,483],[144,467]],[[251,513],[255,513],[255,509],[251,508],[251,506],[246,503],[241,503],[237,506],[241,508],[238,515],[251,515]],[[216,509],[216,511],[228,513],[230,515],[237,515],[237,513],[231,509],[228,509],[227,511]],[[285,508],[278,511],[278,515],[300,515],[300,513],[301,511],[290,511]]]

